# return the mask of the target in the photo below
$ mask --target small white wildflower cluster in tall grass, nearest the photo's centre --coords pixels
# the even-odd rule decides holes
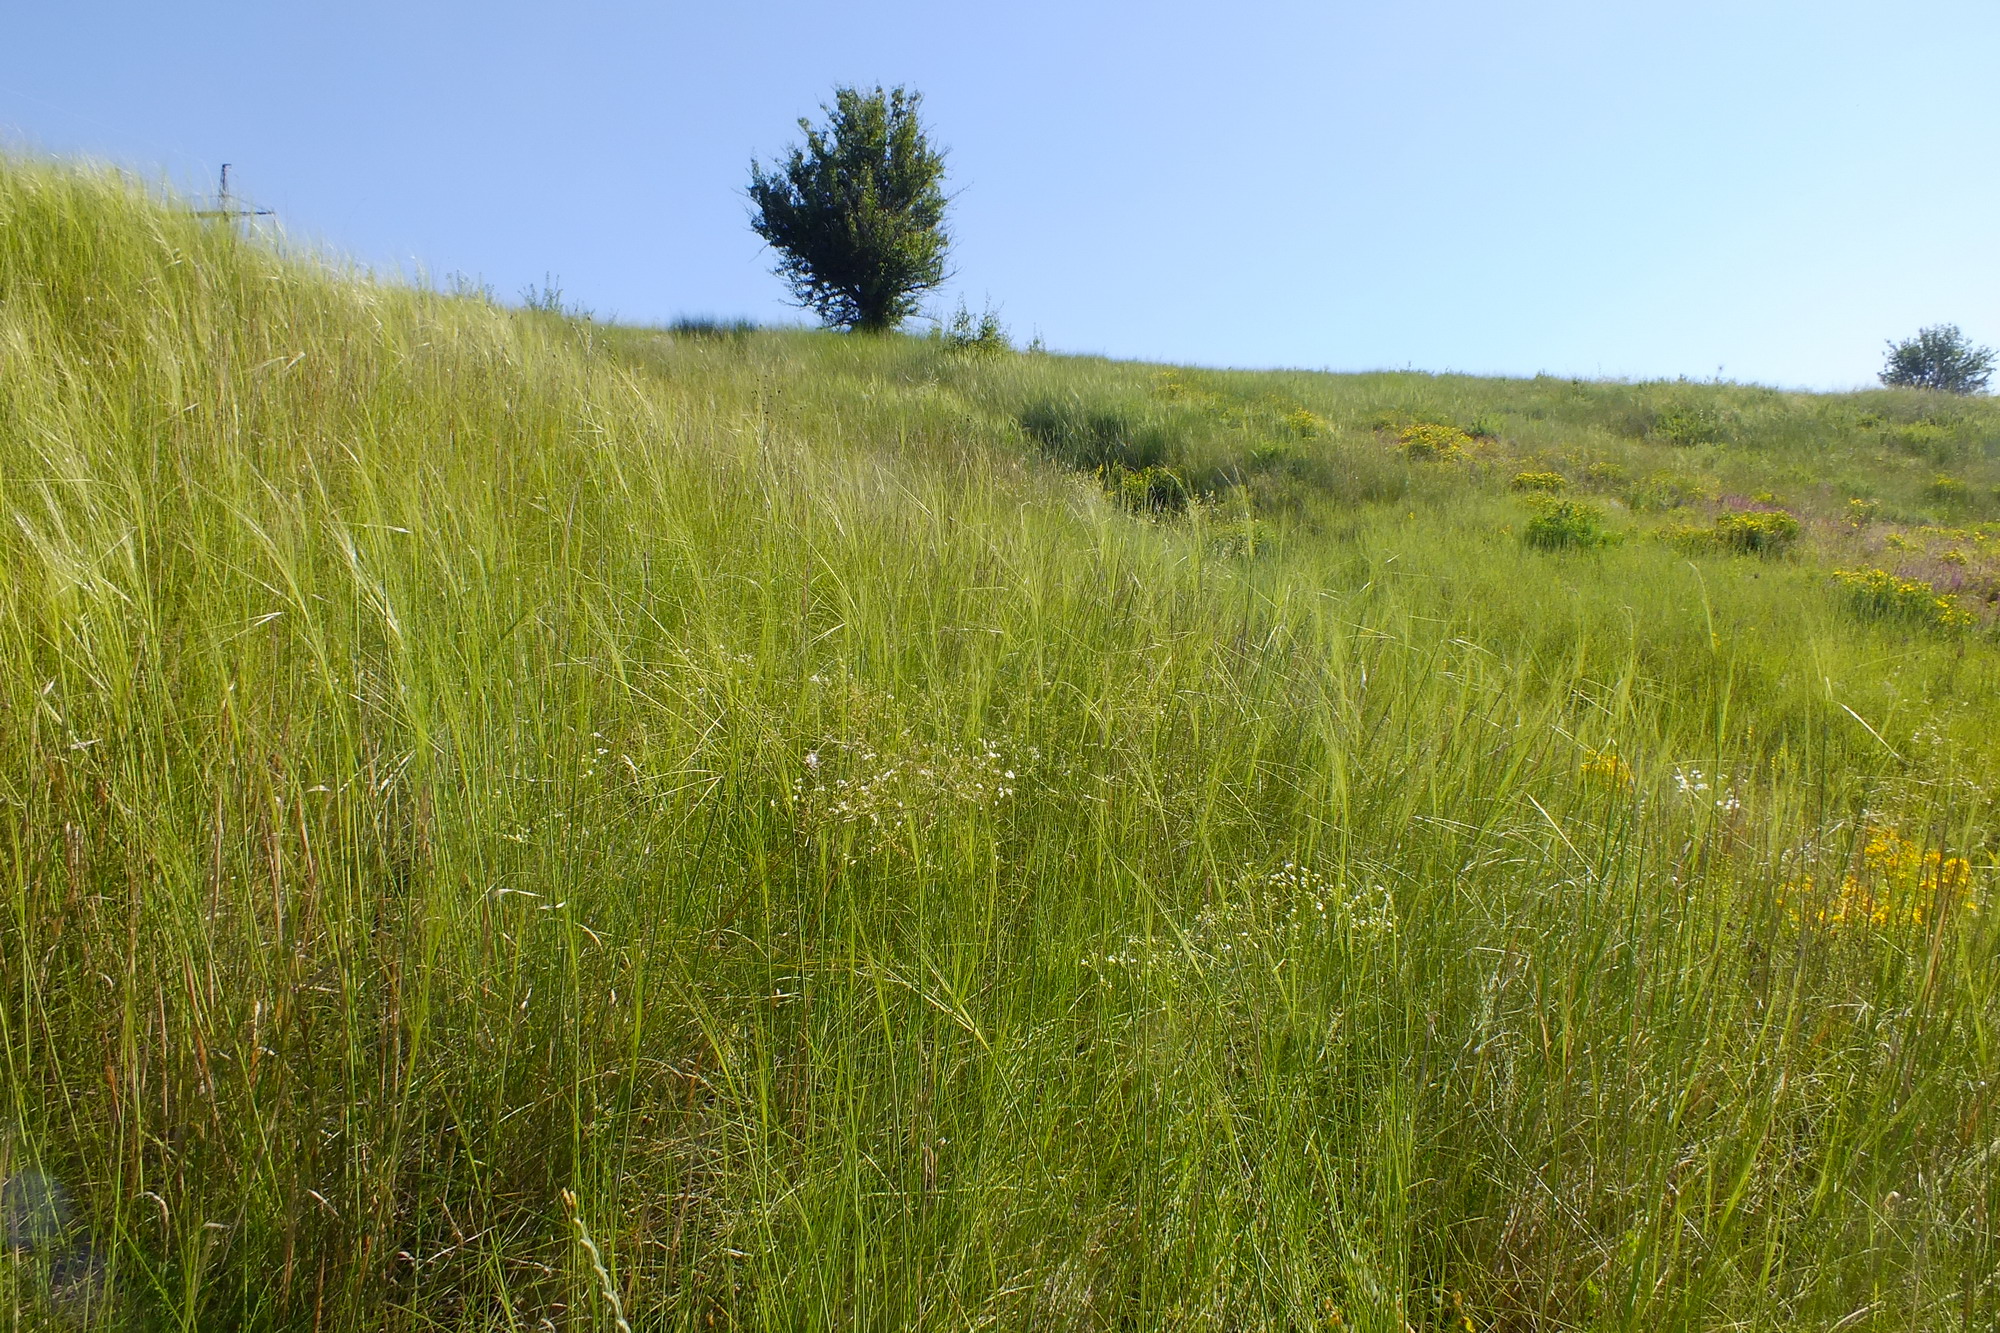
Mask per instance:
[[[800,755],[792,817],[806,837],[852,831],[860,851],[888,851],[946,815],[986,811],[1018,783],[990,741],[942,747],[902,739],[894,749],[864,741],[822,741]]]

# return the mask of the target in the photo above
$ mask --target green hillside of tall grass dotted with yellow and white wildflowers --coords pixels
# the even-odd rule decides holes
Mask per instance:
[[[1990,1329],[1996,482],[4,166],[0,1309]]]

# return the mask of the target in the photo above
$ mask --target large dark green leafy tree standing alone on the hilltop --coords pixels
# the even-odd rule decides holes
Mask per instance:
[[[922,94],[836,88],[826,124],[782,166],[750,162],[750,226],[778,250],[792,298],[838,328],[886,330],[944,282],[944,154],[916,118]]]

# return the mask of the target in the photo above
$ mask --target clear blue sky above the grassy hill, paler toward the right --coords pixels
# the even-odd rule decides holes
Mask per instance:
[[[2000,2],[12,0],[0,144],[368,264],[802,318],[748,230],[836,82],[922,90],[956,284],[1058,350],[1870,382],[2000,342]]]

